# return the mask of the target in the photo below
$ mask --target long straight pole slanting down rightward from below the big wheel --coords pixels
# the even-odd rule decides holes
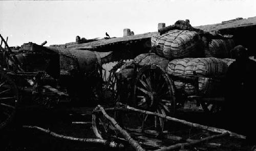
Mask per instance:
[[[120,105],[124,105],[122,103],[119,103],[119,104]],[[198,124],[198,123],[192,123],[192,122],[188,122],[188,121],[185,121],[185,120],[169,117],[169,116],[166,116],[166,115],[163,115],[163,114],[158,114],[158,113],[154,113],[154,112],[150,112],[150,111],[144,111],[144,110],[136,109],[136,108],[131,107],[129,105],[125,105],[125,109],[126,110],[130,110],[130,111],[135,111],[135,112],[143,113],[143,114],[158,116],[158,117],[161,117],[161,118],[166,119],[166,120],[179,122],[179,123],[191,126],[191,127],[200,128],[202,130],[207,130],[207,131],[210,131],[210,132],[222,133],[222,134],[227,132],[227,133],[229,133],[230,136],[233,136],[233,137],[236,137],[236,138],[242,138],[242,139],[246,138],[243,135],[236,134],[236,133],[233,133],[233,132],[221,129],[221,128],[205,126],[205,125],[201,125],[201,124]]]

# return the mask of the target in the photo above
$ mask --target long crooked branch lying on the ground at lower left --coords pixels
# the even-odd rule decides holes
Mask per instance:
[[[53,137],[56,138],[60,138],[60,139],[66,139],[66,140],[72,140],[72,141],[78,141],[78,142],[85,142],[85,143],[96,143],[96,144],[103,144],[109,147],[114,147],[114,148],[122,148],[123,144],[118,144],[115,142],[110,142],[108,140],[103,140],[103,139],[96,139],[96,138],[75,138],[75,137],[71,137],[71,136],[64,136],[64,135],[60,135],[54,132],[51,132],[50,130],[46,130],[44,128],[38,127],[38,126],[29,126],[29,125],[23,125],[23,128],[32,128],[32,129],[36,129],[39,130],[41,132],[50,134]]]

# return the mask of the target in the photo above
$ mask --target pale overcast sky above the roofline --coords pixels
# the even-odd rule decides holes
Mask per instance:
[[[158,23],[173,25],[189,19],[192,26],[256,16],[255,0],[94,0],[0,1],[0,33],[10,46],[47,40],[47,46],[95,38],[157,31]]]

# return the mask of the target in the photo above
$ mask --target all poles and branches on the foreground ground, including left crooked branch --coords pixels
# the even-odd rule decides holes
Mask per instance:
[[[107,113],[108,112],[108,113]],[[194,136],[187,138],[186,136],[177,136],[176,133],[170,133],[168,131],[154,131],[150,128],[146,129],[143,127],[131,128],[126,127],[123,123],[117,122],[117,114],[120,113],[131,113],[136,112],[139,114],[144,114],[148,116],[160,117],[167,121],[172,121],[186,125],[191,128],[195,128],[196,135],[200,134],[199,137],[195,139]],[[114,114],[113,114],[114,113]],[[113,118],[110,115],[114,115]],[[50,136],[59,139],[66,139],[71,141],[83,142],[83,143],[95,143],[102,144],[111,148],[123,148],[132,147],[134,150],[175,150],[184,149],[191,146],[196,146],[198,144],[206,143],[208,145],[220,146],[221,144],[210,142],[213,139],[221,139],[228,137],[234,137],[238,139],[245,139],[245,136],[223,130],[216,127],[205,126],[197,123],[188,122],[185,120],[177,119],[174,117],[144,111],[136,109],[129,105],[122,103],[117,103],[115,107],[106,108],[98,105],[92,112],[92,122],[84,122],[86,124],[92,124],[92,129],[96,138],[75,138],[71,136],[64,136],[50,130],[38,126],[24,125],[24,128],[31,128],[32,130],[39,130],[40,132],[47,133]],[[82,123],[82,124],[84,124]],[[80,124],[80,123],[79,123]],[[190,133],[189,131],[189,133]],[[192,133],[192,132],[191,132]],[[175,135],[174,135],[175,134]],[[193,138],[194,137],[194,138]],[[116,143],[118,142],[118,143]],[[121,143],[119,143],[121,142]]]

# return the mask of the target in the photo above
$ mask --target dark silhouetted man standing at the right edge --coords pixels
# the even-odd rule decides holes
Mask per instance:
[[[229,128],[246,136],[246,144],[256,145],[256,62],[249,59],[247,49],[239,45],[231,50],[236,59],[226,75],[226,103]]]

